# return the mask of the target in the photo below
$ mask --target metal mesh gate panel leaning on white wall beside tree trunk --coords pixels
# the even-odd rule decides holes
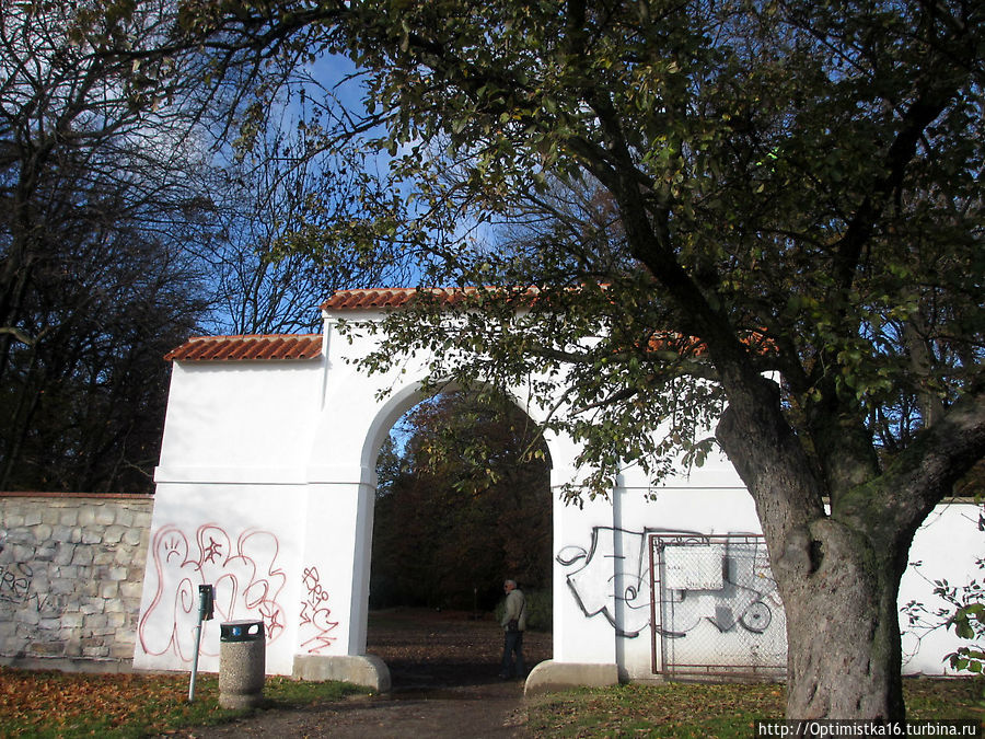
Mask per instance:
[[[787,623],[763,536],[650,535],[653,672],[783,678]]]

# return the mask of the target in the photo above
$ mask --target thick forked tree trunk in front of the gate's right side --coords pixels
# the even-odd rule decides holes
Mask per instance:
[[[917,527],[982,458],[985,394],[878,470],[858,435],[831,444],[837,459],[813,460],[774,383],[722,376],[716,436],[755,500],[787,614],[787,716],[902,720],[900,579]]]

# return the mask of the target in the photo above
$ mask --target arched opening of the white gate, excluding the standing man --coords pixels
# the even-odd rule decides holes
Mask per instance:
[[[551,455],[535,423],[512,399],[452,389],[404,393],[380,418],[395,415],[376,435],[368,654],[396,690],[497,680],[509,578],[530,609],[525,667],[549,659]]]

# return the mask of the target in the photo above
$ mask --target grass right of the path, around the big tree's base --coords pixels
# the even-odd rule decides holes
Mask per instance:
[[[983,717],[981,679],[904,681],[907,718]],[[783,718],[779,683],[667,683],[584,689],[531,703],[528,729],[549,737],[749,739],[753,721]]]

